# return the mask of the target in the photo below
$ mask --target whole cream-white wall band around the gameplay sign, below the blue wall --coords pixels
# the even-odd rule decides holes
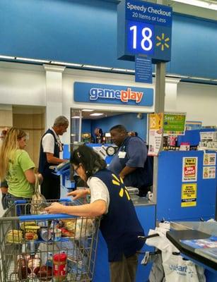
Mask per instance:
[[[136,85],[134,75],[100,73],[65,69],[62,73],[62,113],[70,117],[70,108],[83,108],[85,104],[73,102],[74,81],[96,82],[112,85]],[[0,61],[0,104],[47,106],[46,72],[43,66]],[[187,119],[202,121],[203,125],[217,125],[217,85],[201,85],[167,79],[165,85],[165,111],[187,112]],[[88,108],[108,109],[105,105],[88,104]],[[113,111],[138,111],[133,106],[111,106]],[[153,111],[142,109],[141,111]],[[53,109],[54,113],[59,113]],[[58,114],[59,115],[59,114]],[[1,122],[0,122],[1,124]],[[70,133],[63,136],[68,143]]]

